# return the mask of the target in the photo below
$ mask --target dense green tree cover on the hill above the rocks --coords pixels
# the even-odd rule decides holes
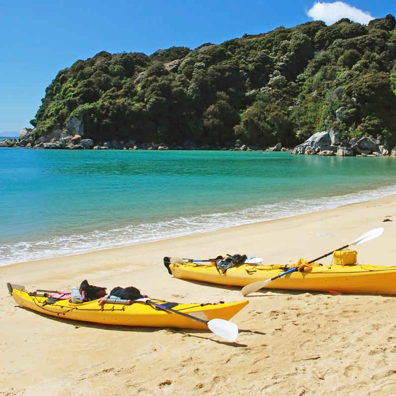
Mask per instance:
[[[367,26],[314,21],[149,56],[99,52],[59,71],[31,124],[47,135],[76,117],[94,142],[260,147],[334,128],[393,147],[395,27],[389,14]]]

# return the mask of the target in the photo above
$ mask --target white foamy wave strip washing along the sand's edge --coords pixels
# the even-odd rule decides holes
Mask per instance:
[[[242,224],[331,209],[392,194],[396,194],[396,185],[334,197],[292,199],[233,212],[202,214],[193,217],[180,216],[169,221],[128,225],[107,231],[94,230],[85,234],[58,236],[50,240],[0,245],[0,266],[215,231]]]

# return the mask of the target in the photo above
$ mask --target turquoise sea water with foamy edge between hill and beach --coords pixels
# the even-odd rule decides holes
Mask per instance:
[[[0,265],[396,193],[390,157],[0,148]]]

